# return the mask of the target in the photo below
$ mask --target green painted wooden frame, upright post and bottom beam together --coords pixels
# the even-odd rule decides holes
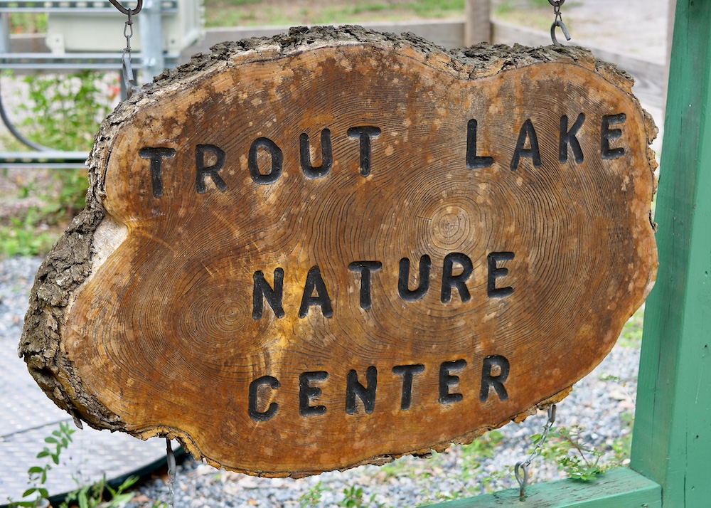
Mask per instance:
[[[438,507],[711,507],[711,0],[677,1],[669,74],[630,468]]]

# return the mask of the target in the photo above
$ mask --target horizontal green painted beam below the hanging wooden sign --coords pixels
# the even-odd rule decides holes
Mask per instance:
[[[518,489],[457,499],[437,504],[437,508],[660,508],[661,487],[648,478],[621,467],[606,472],[592,482],[558,480],[538,483],[518,498]]]

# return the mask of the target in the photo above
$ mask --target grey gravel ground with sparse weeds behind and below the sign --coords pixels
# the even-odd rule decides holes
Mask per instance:
[[[18,341],[40,262],[38,258],[0,260],[0,340]],[[614,462],[611,445],[629,438],[638,360],[638,349],[616,346],[557,406],[557,423],[567,428],[579,425],[582,441],[604,452],[602,462]],[[514,487],[513,466],[528,457],[530,436],[540,433],[546,420],[547,414],[540,412],[523,423],[505,425],[480,440],[479,447],[455,446],[429,459],[403,457],[383,467],[363,466],[300,480],[249,477],[188,458],[178,467],[175,506],[332,507],[343,502],[344,489],[360,487],[360,504],[351,506],[405,507]],[[530,472],[532,483],[565,477],[554,462],[542,457]],[[157,508],[169,502],[165,476],[144,482],[134,493],[126,508]],[[307,499],[316,494],[321,496],[319,502]]]

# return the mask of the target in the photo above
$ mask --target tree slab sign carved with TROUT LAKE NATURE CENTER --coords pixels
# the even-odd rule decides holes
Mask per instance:
[[[653,285],[651,118],[580,48],[299,28],[103,122],[20,351],[77,420],[300,476],[559,401]]]

